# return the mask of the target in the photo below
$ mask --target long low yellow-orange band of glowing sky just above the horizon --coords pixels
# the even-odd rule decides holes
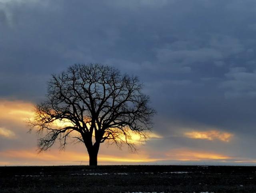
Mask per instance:
[[[42,163],[47,165],[47,163],[80,163],[88,162],[89,157],[86,151],[76,152],[76,151],[58,151],[54,149],[52,151],[46,151],[37,154],[33,149],[27,150],[8,150],[0,152],[0,157],[4,160],[8,160],[10,164],[13,161],[22,161],[24,163]],[[130,155],[105,155],[99,153],[98,161],[99,163],[149,163],[157,161],[202,161],[202,160],[218,160],[218,161],[229,161],[233,159],[232,157],[221,155],[213,152],[206,151],[193,151],[190,149],[173,149],[165,154],[162,158],[150,157],[148,152],[142,152],[141,154],[130,154]],[[234,162],[242,162],[236,160]],[[253,161],[248,161],[253,162]]]

